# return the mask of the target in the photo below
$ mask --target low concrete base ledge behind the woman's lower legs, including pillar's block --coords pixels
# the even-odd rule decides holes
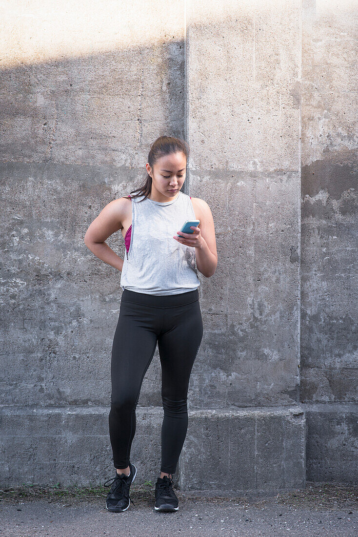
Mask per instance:
[[[2,408],[2,479],[79,487],[114,475],[109,408]],[[131,461],[137,483],[160,470],[162,407],[138,407]],[[9,456],[11,453],[11,457]],[[233,480],[232,476],[235,475]],[[273,492],[304,487],[305,419],[299,407],[189,410],[174,483],[181,490]]]

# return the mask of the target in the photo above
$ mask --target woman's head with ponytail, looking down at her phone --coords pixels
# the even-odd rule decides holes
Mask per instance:
[[[188,156],[189,146],[184,140],[159,136],[150,146],[144,183],[133,191],[138,192],[135,197],[144,195],[145,199],[151,192],[175,197],[185,181]],[[172,189],[175,192],[170,192]]]

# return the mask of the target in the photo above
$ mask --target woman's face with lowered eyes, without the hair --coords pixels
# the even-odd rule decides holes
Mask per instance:
[[[152,178],[153,194],[176,197],[185,181],[186,156],[180,151],[160,157],[154,164],[154,170],[151,170],[147,163],[147,172]]]

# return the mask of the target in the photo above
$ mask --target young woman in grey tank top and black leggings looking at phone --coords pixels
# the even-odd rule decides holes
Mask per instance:
[[[149,151],[144,184],[131,192],[135,195],[111,201],[84,238],[94,255],[121,271],[123,289],[111,360],[108,422],[116,470],[106,499],[109,511],[126,511],[130,504],[129,488],[137,473],[129,460],[135,410],[157,343],[164,419],[154,507],[179,509],[172,478],[186,437],[188,384],[203,335],[195,262],[207,278],[217,265],[210,208],[181,192],[188,154],[184,140],[159,137]],[[193,233],[179,231],[186,220],[200,220],[191,227]],[[119,229],[124,260],[105,243]]]

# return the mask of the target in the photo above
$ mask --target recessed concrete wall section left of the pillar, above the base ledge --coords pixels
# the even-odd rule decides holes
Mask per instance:
[[[170,23],[160,16],[164,8]],[[55,25],[57,48],[46,41],[44,24],[36,34],[27,8],[14,5],[6,15],[13,32],[4,38],[11,67],[2,68],[0,87],[5,405],[109,404],[120,273],[93,256],[83,238],[109,201],[142,181],[149,144],[168,131],[184,137],[184,3],[143,2],[131,12],[119,2],[114,10],[102,6],[93,21],[96,9],[77,18],[83,32],[96,27],[84,43],[103,50],[116,20],[118,47],[78,56],[83,32],[79,38],[77,26],[64,24],[67,10],[57,22],[43,11],[46,28]],[[19,19],[27,47],[13,40]],[[123,43],[128,33],[132,39]],[[46,54],[57,59],[46,61]],[[120,232],[107,243],[123,257]],[[161,404],[158,351],[140,404]]]

